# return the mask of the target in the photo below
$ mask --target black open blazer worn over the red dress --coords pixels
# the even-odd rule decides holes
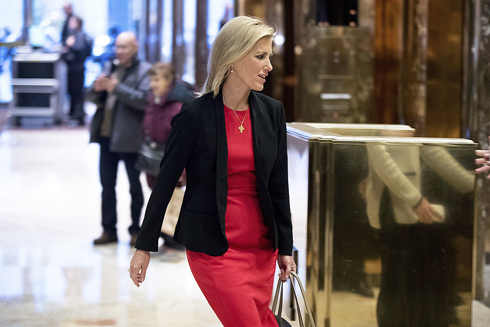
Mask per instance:
[[[251,91],[255,175],[270,239],[279,254],[293,252],[288,188],[286,117],[282,103]],[[187,250],[219,256],[228,250],[224,214],[228,196],[228,146],[222,94],[185,102],[172,128],[136,249],[158,251],[158,238],[175,185],[185,167],[187,186],[174,240]]]

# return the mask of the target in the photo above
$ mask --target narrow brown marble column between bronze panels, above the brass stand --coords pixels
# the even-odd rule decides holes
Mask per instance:
[[[425,133],[425,99],[427,80],[427,0],[403,3],[402,64],[399,82],[399,119]]]

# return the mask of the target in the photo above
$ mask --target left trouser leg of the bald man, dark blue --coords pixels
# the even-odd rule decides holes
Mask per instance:
[[[102,185],[102,226],[104,232],[116,236],[116,177],[119,156],[109,150],[110,138],[100,138],[99,174]]]

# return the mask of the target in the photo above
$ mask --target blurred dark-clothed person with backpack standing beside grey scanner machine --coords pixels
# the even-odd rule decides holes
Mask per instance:
[[[85,125],[84,104],[84,76],[85,76],[85,59],[90,56],[92,42],[82,31],[83,20],[72,15],[68,24],[69,36],[63,46],[62,57],[67,64],[67,89],[70,95],[70,119],[76,122],[76,125]]]

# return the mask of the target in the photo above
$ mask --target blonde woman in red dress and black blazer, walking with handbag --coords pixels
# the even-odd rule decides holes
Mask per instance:
[[[296,270],[285,111],[256,92],[272,70],[274,35],[245,16],[221,28],[200,97],[172,121],[129,270],[139,286],[185,168],[174,240],[187,249],[197,284],[225,327],[278,326],[269,309],[276,262],[283,281]]]

